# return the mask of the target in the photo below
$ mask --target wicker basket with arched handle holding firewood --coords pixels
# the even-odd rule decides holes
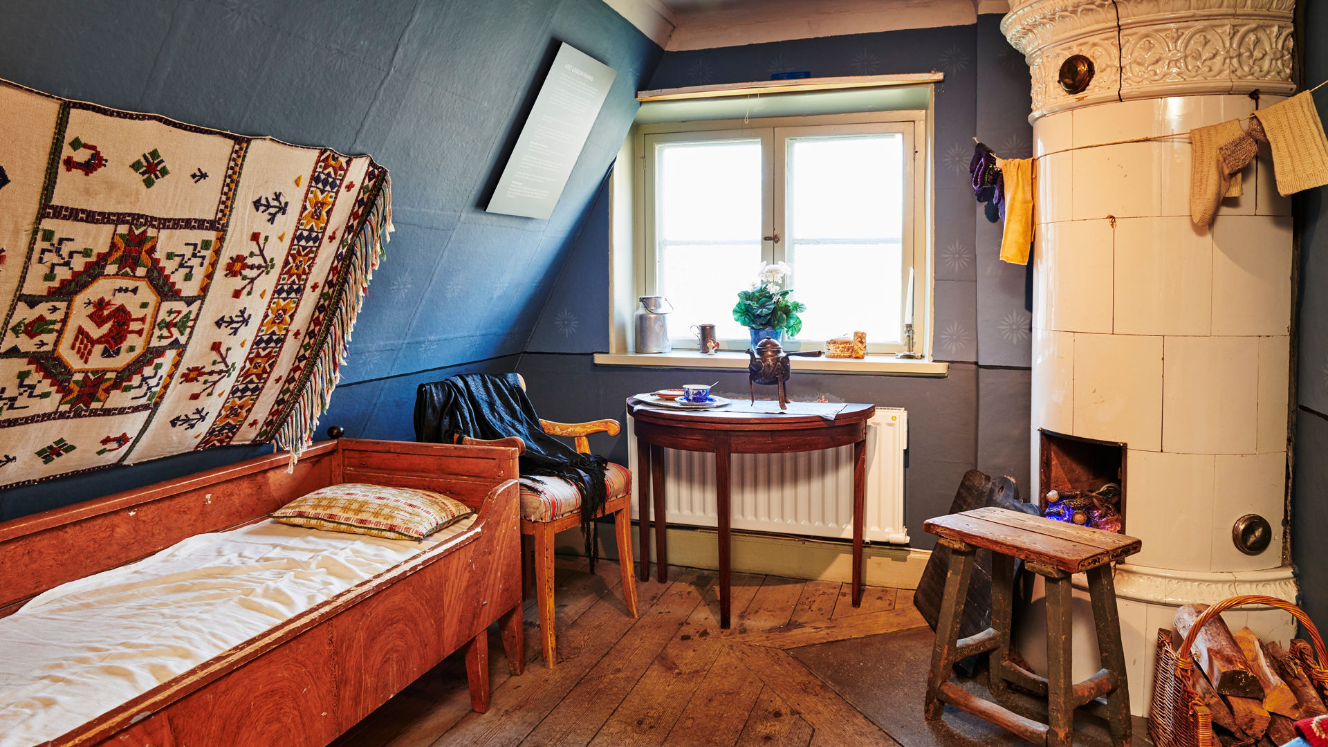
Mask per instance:
[[[1194,671],[1191,651],[1195,637],[1208,621],[1226,610],[1246,605],[1266,605],[1286,610],[1300,621],[1313,642],[1317,659],[1300,651],[1297,651],[1296,658],[1304,665],[1305,673],[1309,674],[1320,691],[1328,689],[1328,670],[1323,669],[1323,665],[1328,663],[1328,653],[1324,651],[1319,630],[1309,622],[1305,613],[1300,611],[1300,607],[1276,597],[1259,594],[1222,599],[1203,610],[1179,649],[1171,647],[1170,630],[1158,630],[1158,655],[1153,663],[1153,712],[1149,714],[1149,736],[1153,738],[1153,744],[1157,747],[1220,747],[1212,735],[1212,715],[1195,695],[1191,685],[1193,677],[1203,677],[1203,674]],[[1242,742],[1242,744],[1250,744],[1250,742]]]

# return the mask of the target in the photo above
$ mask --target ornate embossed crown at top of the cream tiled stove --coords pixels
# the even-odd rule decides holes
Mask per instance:
[[[1293,0],[1016,0],[1001,32],[1033,78],[1029,121],[1078,106],[1211,93],[1288,94]],[[1093,61],[1066,94],[1061,62]]]

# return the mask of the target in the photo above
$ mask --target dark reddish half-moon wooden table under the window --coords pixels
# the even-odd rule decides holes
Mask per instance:
[[[757,408],[769,409],[769,401]],[[814,411],[821,403],[789,403],[793,409]],[[797,407],[794,407],[797,405]],[[776,405],[778,407],[778,405]],[[825,409],[838,407],[826,404]],[[714,455],[714,482],[718,502],[720,529],[720,627],[729,626],[729,455],[734,453],[790,453],[833,449],[853,445],[853,606],[862,603],[862,528],[866,497],[867,419],[875,411],[872,404],[847,404],[833,420],[821,415],[794,415],[788,412],[757,412],[748,403],[736,400],[718,409],[665,409],[637,399],[627,397],[627,412],[636,429],[636,494],[640,509],[640,578],[649,578],[651,550],[651,497],[653,493],[656,566],[660,581],[665,581],[668,545],[665,540],[668,518],[664,513],[663,449],[709,452]]]

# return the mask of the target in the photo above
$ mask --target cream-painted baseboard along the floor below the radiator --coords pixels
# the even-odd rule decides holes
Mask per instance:
[[[718,568],[718,541],[714,529],[671,526],[668,530],[668,561],[688,568]],[[653,550],[653,540],[651,541]],[[555,552],[584,554],[586,542],[580,529],[558,534]],[[611,524],[599,528],[600,557],[618,560],[618,542]],[[632,528],[632,557],[640,557],[636,528]],[[653,554],[653,553],[652,553]],[[803,537],[774,534],[733,533],[733,570],[809,578],[817,581],[853,581],[851,548],[846,542],[827,542]],[[869,586],[916,589],[931,550],[915,550],[894,545],[867,545],[862,549],[865,582]],[[653,557],[652,557],[653,560]]]

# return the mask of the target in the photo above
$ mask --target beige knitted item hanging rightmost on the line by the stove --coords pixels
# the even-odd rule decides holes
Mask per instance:
[[[1328,137],[1309,92],[1255,112],[1272,146],[1278,191],[1286,197],[1328,185]]]

